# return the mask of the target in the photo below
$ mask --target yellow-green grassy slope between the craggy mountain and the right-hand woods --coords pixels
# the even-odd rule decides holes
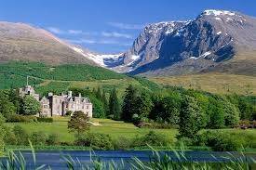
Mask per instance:
[[[215,94],[256,95],[256,78],[247,75],[229,73],[201,73],[194,75],[151,77],[151,81],[160,85],[175,85],[194,88]]]

